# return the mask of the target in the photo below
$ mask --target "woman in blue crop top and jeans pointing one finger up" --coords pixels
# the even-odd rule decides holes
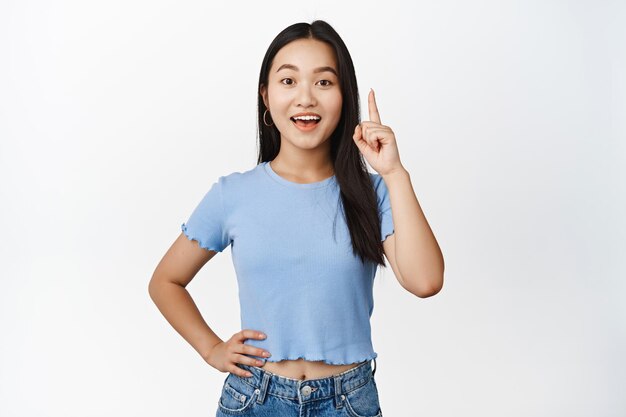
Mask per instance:
[[[150,295],[228,372],[218,416],[381,416],[369,323],[376,267],[385,255],[407,291],[428,297],[443,285],[441,251],[373,91],[370,121],[359,122],[352,59],[328,23],[278,34],[258,87],[257,165],[213,183]],[[185,286],[229,245],[243,329],[222,341]]]

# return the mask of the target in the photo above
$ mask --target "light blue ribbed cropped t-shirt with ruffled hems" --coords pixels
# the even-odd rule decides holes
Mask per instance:
[[[381,236],[394,232],[387,187],[369,173],[378,196]],[[241,329],[264,332],[246,344],[261,361],[304,358],[329,364],[374,359],[370,317],[377,265],[352,253],[335,176],[299,184],[262,162],[221,176],[181,225],[202,248],[231,245]]]

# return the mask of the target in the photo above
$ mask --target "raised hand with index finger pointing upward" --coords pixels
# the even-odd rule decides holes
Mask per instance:
[[[400,162],[396,136],[389,126],[380,124],[374,90],[370,89],[367,104],[370,120],[356,125],[352,139],[354,139],[365,160],[380,175],[384,176],[396,170],[404,169]]]

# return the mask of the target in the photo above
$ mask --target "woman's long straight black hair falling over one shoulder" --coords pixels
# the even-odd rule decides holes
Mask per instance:
[[[259,155],[257,163],[272,161],[280,151],[280,132],[276,125],[265,125],[263,115],[267,107],[260,93],[262,86],[268,85],[269,71],[278,51],[289,42],[298,39],[316,39],[330,45],[337,58],[339,85],[343,104],[341,118],[330,137],[330,153],[335,178],[340,188],[343,212],[350,230],[352,251],[361,258],[386,266],[381,241],[378,202],[370,173],[365,160],[354,143],[354,128],[360,123],[359,89],[354,72],[354,64],[339,34],[323,20],[313,23],[295,23],[272,41],[259,74],[258,85],[258,136]]]

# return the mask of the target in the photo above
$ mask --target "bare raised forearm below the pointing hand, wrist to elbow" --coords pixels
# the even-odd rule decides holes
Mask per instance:
[[[412,288],[437,292],[443,285],[443,255],[405,169],[383,177],[394,222],[395,259]]]

